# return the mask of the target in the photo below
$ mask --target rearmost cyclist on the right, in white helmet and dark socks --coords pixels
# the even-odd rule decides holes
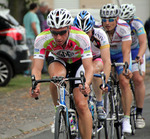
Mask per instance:
[[[133,82],[135,87],[136,98],[136,128],[143,128],[145,126],[144,118],[142,117],[142,110],[145,96],[145,51],[147,38],[142,21],[135,16],[136,7],[133,4],[122,4],[120,18],[125,20],[131,27],[132,45],[131,53],[132,59],[136,59],[141,63],[143,76],[139,74],[138,64],[132,64]]]

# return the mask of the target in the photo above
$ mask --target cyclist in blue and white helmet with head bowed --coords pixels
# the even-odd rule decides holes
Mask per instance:
[[[90,37],[94,73],[99,74],[103,70],[107,81],[111,70],[110,45],[105,31],[100,28],[94,28],[94,25],[94,17],[86,10],[81,11],[74,19],[74,26],[86,32]],[[100,78],[94,77],[92,80],[92,87],[97,99],[96,110],[98,119],[104,120],[107,115],[103,109],[102,90],[99,88],[101,83]],[[105,88],[103,89],[106,91]]]

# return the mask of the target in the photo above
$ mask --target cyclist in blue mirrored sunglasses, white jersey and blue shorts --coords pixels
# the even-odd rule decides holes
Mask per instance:
[[[111,60],[115,62],[131,63],[131,30],[129,25],[119,19],[120,9],[117,5],[106,4],[100,9],[102,27],[106,31],[110,43]],[[131,66],[128,73],[125,73],[123,66],[117,67],[119,85],[122,92],[122,106],[124,118],[122,122],[122,132],[131,133],[130,125],[130,107],[132,102],[132,93],[129,85],[129,79],[132,77]]]

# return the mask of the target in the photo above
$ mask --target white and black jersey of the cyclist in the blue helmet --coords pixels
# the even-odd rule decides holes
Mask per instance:
[[[109,41],[105,31],[101,28],[94,28],[91,37],[91,49],[93,58],[100,56],[100,50],[109,48]]]

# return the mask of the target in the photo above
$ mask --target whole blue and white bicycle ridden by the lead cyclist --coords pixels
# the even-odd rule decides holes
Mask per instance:
[[[73,88],[72,84],[74,80],[80,80],[81,84],[83,85],[84,88],[84,83],[85,83],[85,77],[84,73],[80,73],[80,77],[69,77],[69,78],[64,78],[64,77],[52,77],[51,79],[41,79],[41,80],[36,80],[35,76],[31,76],[32,79],[32,93],[33,90],[36,88],[36,85],[38,83],[45,83],[45,82],[51,82],[54,83],[57,87],[57,92],[59,95],[58,98],[58,104],[56,106],[56,113],[55,113],[55,135],[54,139],[75,139],[76,137],[80,137],[80,133],[78,131],[78,115],[75,109],[75,104],[73,100]],[[69,92],[66,90],[66,81],[69,81],[70,87],[69,87]],[[66,96],[69,96],[69,106],[66,104]],[[85,95],[85,97],[87,97]],[[36,100],[38,98],[35,98]],[[69,122],[69,118],[71,116],[74,116],[73,121],[76,126],[76,131],[71,132],[71,123]]]

